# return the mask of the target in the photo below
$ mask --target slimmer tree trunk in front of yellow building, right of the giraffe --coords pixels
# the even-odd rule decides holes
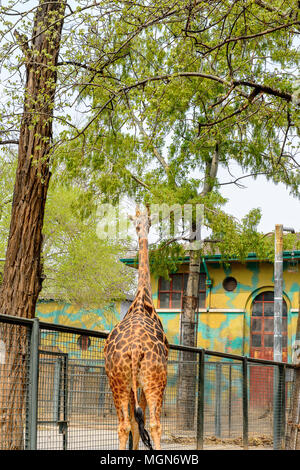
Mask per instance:
[[[219,146],[216,144],[211,159],[206,164],[205,180],[201,196],[206,196],[212,191],[218,172]],[[199,223],[199,221],[198,221]],[[193,233],[197,230],[193,227]],[[194,241],[195,235],[191,239]],[[197,324],[196,321],[199,308],[199,277],[201,256],[196,250],[190,251],[189,275],[187,289],[183,296],[181,312],[181,343],[184,346],[197,346]],[[179,383],[177,393],[177,423],[182,429],[193,429],[196,416],[196,376],[197,357],[194,353],[181,352],[179,364]]]

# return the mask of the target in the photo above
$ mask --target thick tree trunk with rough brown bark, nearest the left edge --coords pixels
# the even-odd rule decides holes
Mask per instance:
[[[42,228],[50,180],[56,64],[64,10],[65,1],[40,0],[31,47],[24,36],[16,33],[25,55],[26,86],[0,312],[26,318],[34,317],[42,287]],[[20,449],[23,446],[26,333],[3,325],[1,330],[5,364],[0,365],[0,446]]]

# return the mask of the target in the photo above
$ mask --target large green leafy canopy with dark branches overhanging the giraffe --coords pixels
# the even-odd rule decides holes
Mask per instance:
[[[1,60],[10,74],[2,143],[18,137],[17,89],[35,9],[1,7]],[[235,221],[222,209],[221,189],[239,184],[230,176],[234,161],[243,178],[265,175],[298,195],[298,35],[296,0],[67,5],[52,168],[64,181],[84,181],[85,201],[126,194],[144,203],[204,204],[225,258],[253,247],[266,255],[259,211]]]

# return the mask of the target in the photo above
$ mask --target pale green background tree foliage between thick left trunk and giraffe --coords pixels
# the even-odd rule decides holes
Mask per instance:
[[[5,258],[9,233],[16,156],[0,161],[1,213],[0,258]],[[40,298],[55,299],[91,308],[125,299],[133,289],[134,274],[119,262],[126,240],[97,236],[97,205],[79,186],[59,183],[53,175],[43,228],[44,282]],[[82,210],[82,207],[85,210]]]

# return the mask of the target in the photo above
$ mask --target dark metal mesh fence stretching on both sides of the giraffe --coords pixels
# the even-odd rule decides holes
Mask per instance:
[[[0,315],[0,449],[118,448],[106,336]],[[162,449],[284,448],[293,373],[290,364],[171,345]]]

